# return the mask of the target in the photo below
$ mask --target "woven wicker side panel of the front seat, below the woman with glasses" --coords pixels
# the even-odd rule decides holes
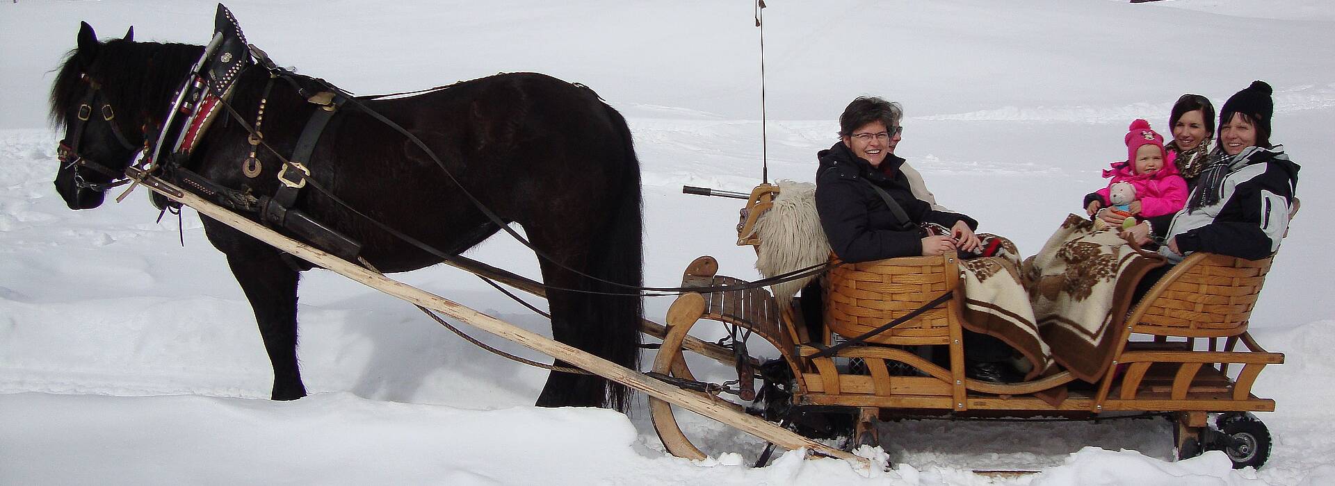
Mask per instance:
[[[959,278],[953,272],[953,265],[947,269],[944,257],[836,266],[825,281],[825,325],[845,337],[861,336],[940,297]],[[948,318],[943,304],[866,341],[896,344],[897,337],[949,337]]]

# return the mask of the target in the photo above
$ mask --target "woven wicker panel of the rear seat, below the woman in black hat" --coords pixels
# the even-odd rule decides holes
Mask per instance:
[[[1206,256],[1176,280],[1159,284],[1164,292],[1149,302],[1135,332],[1234,336],[1247,330],[1272,258]]]

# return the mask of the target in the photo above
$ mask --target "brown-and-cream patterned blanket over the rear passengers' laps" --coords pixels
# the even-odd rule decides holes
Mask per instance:
[[[1119,229],[1071,214],[1023,265],[1043,341],[1061,366],[1088,382],[1111,365],[1136,282],[1164,264],[1128,245]]]

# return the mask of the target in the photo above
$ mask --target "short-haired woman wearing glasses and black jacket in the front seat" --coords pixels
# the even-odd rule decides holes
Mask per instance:
[[[898,104],[858,97],[840,116],[840,141],[817,153],[816,209],[830,248],[846,262],[980,246],[977,221],[913,196],[900,170],[904,158],[894,156],[902,113]],[[951,234],[922,236],[924,222],[951,228]]]

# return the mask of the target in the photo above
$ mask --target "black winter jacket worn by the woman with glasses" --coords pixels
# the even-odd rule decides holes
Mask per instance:
[[[888,154],[881,162],[881,168],[892,169],[890,176],[854,156],[844,142],[836,142],[816,157],[820,160],[820,169],[816,172],[816,210],[830,249],[840,260],[860,262],[920,256],[922,234],[917,225],[922,222],[951,228],[957,221],[964,221],[971,229],[979,226],[968,216],[933,210],[929,204],[914,198],[898,170],[904,158],[894,154]],[[868,186],[868,181],[885,189],[904,208],[914,226],[897,229],[900,225],[894,214],[876,190]]]

